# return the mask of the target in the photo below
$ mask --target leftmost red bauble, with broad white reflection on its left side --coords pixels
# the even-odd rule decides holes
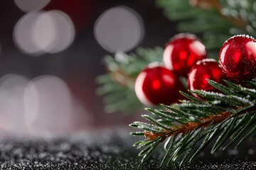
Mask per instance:
[[[135,81],[136,95],[146,106],[174,103],[180,99],[178,91],[182,89],[176,74],[159,64],[149,64]]]

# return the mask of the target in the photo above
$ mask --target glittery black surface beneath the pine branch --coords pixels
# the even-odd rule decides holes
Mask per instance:
[[[66,137],[1,139],[1,169],[171,169],[159,166],[161,146],[145,163],[127,130],[82,132]],[[239,150],[209,154],[206,149],[181,169],[256,169],[254,142]],[[172,167],[173,168],[173,167]]]

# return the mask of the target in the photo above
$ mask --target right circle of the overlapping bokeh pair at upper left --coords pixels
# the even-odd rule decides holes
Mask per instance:
[[[32,35],[41,50],[56,53],[65,50],[73,42],[75,28],[65,13],[54,10],[38,17]]]

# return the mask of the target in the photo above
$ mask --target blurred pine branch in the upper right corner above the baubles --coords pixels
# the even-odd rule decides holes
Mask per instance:
[[[233,35],[256,36],[256,1],[191,1],[156,0],[156,5],[171,21],[178,21],[179,32],[201,35],[211,58],[218,57],[218,49]]]

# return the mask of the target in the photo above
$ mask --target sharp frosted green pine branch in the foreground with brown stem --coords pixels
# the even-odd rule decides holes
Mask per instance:
[[[164,140],[166,154],[161,164],[170,165],[179,161],[182,165],[191,162],[213,140],[211,153],[235,143],[238,147],[248,137],[256,135],[256,81],[247,81],[246,84],[225,81],[226,86],[215,81],[208,82],[222,93],[191,91],[206,99],[201,101],[181,92],[189,101],[162,105],[164,110],[146,108],[154,118],[142,116],[152,124],[135,122],[130,125],[144,130],[132,133],[146,137],[134,144],[144,148],[139,153],[143,156],[142,161]]]

